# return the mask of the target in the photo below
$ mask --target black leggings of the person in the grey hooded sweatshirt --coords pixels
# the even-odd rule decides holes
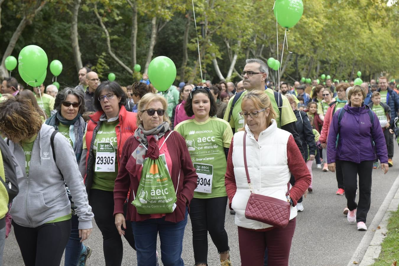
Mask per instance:
[[[61,263],[71,234],[71,219],[45,223],[36,228],[23,227],[14,221],[12,225],[26,266],[54,266]]]

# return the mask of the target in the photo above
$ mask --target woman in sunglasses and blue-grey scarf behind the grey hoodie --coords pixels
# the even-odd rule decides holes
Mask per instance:
[[[83,150],[83,135],[86,130],[86,122],[82,118],[82,114],[85,112],[83,91],[72,88],[63,89],[55,98],[54,109],[57,112],[48,118],[45,123],[53,126],[55,130],[58,130],[67,138],[79,164]],[[71,200],[72,230],[65,248],[65,266],[76,266],[79,262],[86,262],[91,255],[91,248],[80,242],[76,206],[73,204],[69,189],[67,189],[67,193]]]

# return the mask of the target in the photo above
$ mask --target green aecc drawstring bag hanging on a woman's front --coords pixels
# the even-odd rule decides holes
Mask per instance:
[[[147,157],[132,204],[139,214],[172,213],[176,208],[176,191],[167,169],[165,155],[161,154],[156,160]]]

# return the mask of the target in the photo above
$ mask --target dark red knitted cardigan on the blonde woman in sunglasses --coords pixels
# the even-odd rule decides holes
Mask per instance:
[[[165,135],[169,134],[169,131]],[[115,180],[114,188],[114,215],[123,213],[123,204],[128,195],[129,189],[137,191],[138,183],[141,176],[135,176],[136,164],[130,161],[131,154],[136,150],[140,144],[134,137],[126,141],[126,146],[122,154],[122,160],[119,164],[119,171],[117,179]],[[186,206],[190,205],[190,201],[194,196],[194,189],[197,187],[198,175],[194,169],[193,163],[188,152],[186,141],[176,131],[173,131],[166,140],[170,158],[173,162],[172,173],[170,175],[173,185],[177,188],[177,202],[176,209],[172,213],[166,213],[165,221],[177,223],[183,221],[186,215]],[[180,172],[180,180],[178,179]],[[138,214],[136,207],[130,204],[134,200],[134,194],[130,193],[128,199],[128,207],[126,213],[126,220],[128,221],[144,221],[150,218],[148,214]]]

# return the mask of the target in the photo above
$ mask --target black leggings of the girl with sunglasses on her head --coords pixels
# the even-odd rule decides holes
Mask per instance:
[[[208,232],[217,252],[230,250],[224,227],[227,197],[192,199],[190,220],[193,231],[194,260],[196,264],[207,263]]]

